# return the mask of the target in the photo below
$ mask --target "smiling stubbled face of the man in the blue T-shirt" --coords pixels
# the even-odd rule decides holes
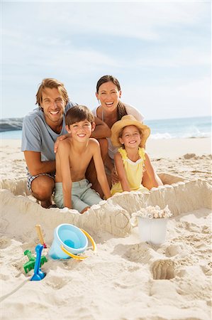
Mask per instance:
[[[43,108],[45,121],[50,127],[55,127],[62,123],[65,100],[63,100],[62,94],[56,88],[50,89],[46,87],[43,90],[40,105]]]

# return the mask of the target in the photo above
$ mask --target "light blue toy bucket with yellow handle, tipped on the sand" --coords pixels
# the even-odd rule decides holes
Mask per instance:
[[[54,230],[54,240],[48,252],[52,259],[67,259],[72,257],[77,260],[84,260],[87,256],[79,256],[91,241],[93,250],[96,251],[96,244],[85,230],[77,228],[75,225],[62,224]]]

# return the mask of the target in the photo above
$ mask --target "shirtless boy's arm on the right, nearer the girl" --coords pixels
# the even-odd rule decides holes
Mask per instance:
[[[101,186],[101,190],[104,193],[106,199],[110,198],[111,191],[108,185],[108,180],[106,178],[106,173],[104,170],[104,163],[101,158],[101,150],[99,146],[99,142],[96,140],[91,140],[91,148],[93,151],[93,159],[94,159],[94,166],[96,169],[97,179]]]

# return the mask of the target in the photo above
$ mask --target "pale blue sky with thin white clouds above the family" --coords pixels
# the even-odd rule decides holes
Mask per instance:
[[[145,119],[211,114],[211,1],[2,1],[1,118],[35,108],[43,78],[93,109],[114,75]]]

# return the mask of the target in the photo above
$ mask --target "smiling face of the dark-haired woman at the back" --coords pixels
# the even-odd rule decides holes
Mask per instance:
[[[98,92],[96,92],[96,97],[101,102],[105,112],[113,112],[116,110],[118,100],[121,97],[121,90],[118,90],[118,87],[113,82],[105,82],[100,85]]]

